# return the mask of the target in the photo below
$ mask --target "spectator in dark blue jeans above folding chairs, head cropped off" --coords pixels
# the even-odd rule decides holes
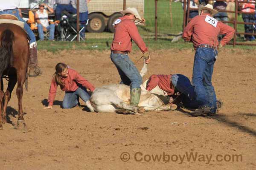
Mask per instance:
[[[56,13],[56,20],[61,20],[61,12],[67,11],[71,14],[76,14],[76,8],[74,8],[71,3],[71,0],[55,0],[57,4],[55,13]]]

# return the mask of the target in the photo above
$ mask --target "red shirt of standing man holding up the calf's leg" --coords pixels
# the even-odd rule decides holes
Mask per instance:
[[[128,51],[131,52],[131,40],[138,45],[143,53],[148,51],[143,39],[140,37],[137,26],[128,16],[120,17],[120,23],[115,25],[115,34],[111,44],[111,51]]]

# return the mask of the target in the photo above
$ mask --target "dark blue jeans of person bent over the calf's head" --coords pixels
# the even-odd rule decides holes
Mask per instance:
[[[195,90],[189,78],[182,74],[173,74],[172,85],[175,87],[175,92],[180,93],[180,99],[185,108],[198,108],[198,102],[195,100]]]

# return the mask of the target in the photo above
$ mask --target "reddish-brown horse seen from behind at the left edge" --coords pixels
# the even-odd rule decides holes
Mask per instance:
[[[26,128],[23,118],[22,96],[23,85],[26,82],[29,64],[29,43],[26,32],[13,23],[0,24],[0,129],[6,122],[6,109],[11,99],[12,91],[17,83],[18,119],[15,128]],[[9,78],[6,92],[3,92],[3,76]],[[23,127],[22,127],[23,126]]]

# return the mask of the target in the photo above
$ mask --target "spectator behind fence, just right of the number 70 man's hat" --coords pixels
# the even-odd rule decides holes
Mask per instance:
[[[227,2],[229,2],[229,0],[227,0]],[[213,8],[216,10],[226,10],[227,8],[227,3],[224,1],[218,1],[216,0],[216,2],[213,5]],[[227,12],[221,12],[219,11],[217,14],[214,15],[214,18],[216,20],[219,21],[228,21],[228,17],[227,17]]]

